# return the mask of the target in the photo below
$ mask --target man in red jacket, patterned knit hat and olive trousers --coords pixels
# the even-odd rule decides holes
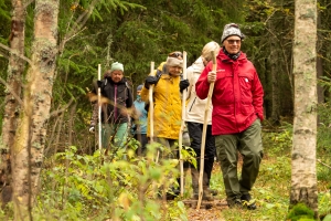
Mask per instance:
[[[244,34],[239,27],[224,27],[223,49],[216,56],[216,72],[212,62],[200,75],[196,95],[212,95],[212,134],[215,136],[217,159],[221,162],[227,204],[249,210],[256,209],[249,191],[258,175],[263,158],[261,127],[264,91],[256,70],[241,51]],[[242,176],[237,175],[238,154],[243,156]]]

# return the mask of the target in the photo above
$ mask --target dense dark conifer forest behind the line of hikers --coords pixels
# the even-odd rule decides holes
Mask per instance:
[[[136,87],[143,83],[151,61],[158,64],[166,60],[169,52],[186,51],[190,65],[205,43],[220,43],[223,27],[229,22],[238,23],[247,36],[242,50],[255,64],[263,82],[268,123],[277,125],[280,117],[291,117],[293,3],[282,0],[61,1],[60,54],[52,109],[70,105],[60,118],[58,112],[51,118],[61,122],[50,124],[52,133],[49,133],[49,149],[54,148],[52,145],[61,148],[67,143],[75,143],[79,147],[92,145],[87,136],[92,107],[85,95],[97,77],[98,64],[102,64],[104,72],[115,61],[124,63],[125,74]],[[11,1],[2,0],[0,4],[0,42],[8,44],[11,35]],[[319,0],[318,6],[318,74],[329,77],[330,2]],[[33,2],[26,7],[28,57],[33,7]],[[9,55],[8,51],[0,50],[1,54]],[[3,80],[7,78],[7,64],[8,59],[1,55],[0,76]],[[0,87],[0,98],[3,98],[4,85]],[[328,91],[320,88],[319,101],[328,98]],[[60,131],[66,136],[54,141],[55,134]]]

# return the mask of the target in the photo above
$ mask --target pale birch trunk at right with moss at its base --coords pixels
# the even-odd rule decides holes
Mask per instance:
[[[290,207],[302,202],[318,217],[317,147],[317,2],[296,0],[293,75],[295,122]]]

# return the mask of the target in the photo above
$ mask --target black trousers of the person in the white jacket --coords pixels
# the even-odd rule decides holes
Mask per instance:
[[[188,130],[191,139],[191,148],[196,154],[196,165],[197,170],[200,170],[200,159],[201,159],[201,141],[202,141],[202,130],[203,130],[203,124],[200,123],[192,123],[188,122]],[[212,176],[213,170],[213,164],[214,164],[214,157],[215,157],[215,138],[212,135],[212,125],[207,126],[206,130],[206,137],[205,137],[205,151],[204,151],[204,175],[206,175],[207,183],[210,185],[210,179]]]

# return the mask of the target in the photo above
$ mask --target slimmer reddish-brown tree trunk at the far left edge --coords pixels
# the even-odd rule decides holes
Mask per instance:
[[[12,0],[12,21],[10,42],[10,57],[7,77],[7,91],[4,97],[4,114],[2,122],[2,144],[0,140],[0,186],[2,203],[7,203],[11,199],[11,167],[10,167],[10,150],[13,146],[15,136],[17,122],[20,109],[20,101],[15,97],[21,96],[21,76],[24,72],[24,60],[20,56],[24,55],[24,25],[25,10],[21,0]],[[4,198],[7,200],[4,200]]]

